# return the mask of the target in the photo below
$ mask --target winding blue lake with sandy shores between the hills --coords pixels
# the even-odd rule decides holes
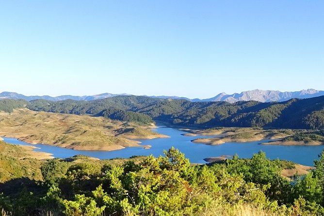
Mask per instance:
[[[168,150],[172,146],[178,148],[192,163],[206,163],[203,159],[206,157],[217,157],[220,155],[234,155],[238,154],[243,158],[250,158],[254,153],[260,150],[266,153],[270,159],[285,159],[291,160],[299,164],[313,166],[314,160],[318,159],[324,148],[319,146],[280,146],[280,145],[259,145],[260,142],[267,142],[269,140],[253,141],[253,142],[227,142],[221,145],[205,145],[201,143],[193,143],[192,139],[210,138],[215,136],[196,136],[186,137],[182,136],[184,132],[176,128],[159,126],[155,130],[158,133],[165,134],[170,138],[161,139],[140,139],[143,145],[151,145],[150,149],[142,147],[130,147],[116,151],[79,151],[66,148],[60,148],[44,144],[28,144],[13,138],[3,138],[5,142],[21,145],[32,145],[40,149],[34,151],[48,152],[54,157],[71,157],[76,154],[88,155],[100,159],[111,159],[115,157],[130,157],[132,155],[150,155],[159,156],[163,154],[163,150]]]

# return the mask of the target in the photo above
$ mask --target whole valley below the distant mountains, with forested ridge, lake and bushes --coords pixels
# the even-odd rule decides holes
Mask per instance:
[[[124,205],[137,213],[144,195],[150,205],[177,204],[181,214],[209,202],[218,206],[210,215],[249,208],[293,216],[308,188],[323,191],[323,110],[323,96],[234,104],[142,96],[0,100],[0,206],[17,216],[114,214]],[[228,205],[231,199],[248,207]],[[256,213],[255,206],[263,207]]]

